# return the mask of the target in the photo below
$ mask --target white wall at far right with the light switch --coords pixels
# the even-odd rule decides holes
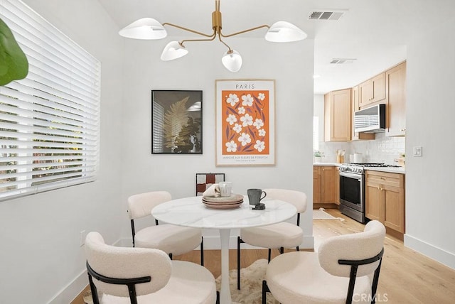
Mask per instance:
[[[408,45],[405,244],[455,268],[455,19]],[[412,148],[422,146],[422,157]]]

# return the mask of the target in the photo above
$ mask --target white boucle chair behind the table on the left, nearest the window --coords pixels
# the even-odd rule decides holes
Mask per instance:
[[[172,259],[173,255],[186,254],[200,245],[200,265],[204,265],[202,229],[171,224],[155,224],[136,232],[134,219],[151,217],[151,210],[171,200],[167,191],[144,192],[128,197],[128,214],[131,222],[133,247],[161,249]]]

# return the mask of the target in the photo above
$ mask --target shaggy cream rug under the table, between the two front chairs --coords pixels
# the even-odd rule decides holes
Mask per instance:
[[[247,268],[240,269],[240,291],[237,290],[237,269],[229,271],[229,286],[233,303],[261,304],[262,280],[265,279],[267,259],[259,259]],[[216,279],[217,290],[220,290],[221,278]],[[267,293],[267,304],[277,304],[272,293]]]

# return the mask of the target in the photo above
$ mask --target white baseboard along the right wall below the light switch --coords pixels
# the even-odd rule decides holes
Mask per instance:
[[[430,259],[434,259],[441,264],[449,266],[452,269],[455,269],[455,254],[444,249],[441,249],[432,244],[428,244],[421,239],[405,234],[405,246],[413,249],[420,254],[428,256]]]

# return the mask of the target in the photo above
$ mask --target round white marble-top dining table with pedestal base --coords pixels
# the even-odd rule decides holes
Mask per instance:
[[[220,303],[232,303],[229,287],[230,229],[259,227],[276,224],[296,215],[296,207],[289,202],[264,198],[264,210],[252,210],[245,195],[242,205],[234,209],[205,207],[202,196],[185,197],[164,202],[151,210],[160,222],[183,227],[218,229],[221,243]]]

